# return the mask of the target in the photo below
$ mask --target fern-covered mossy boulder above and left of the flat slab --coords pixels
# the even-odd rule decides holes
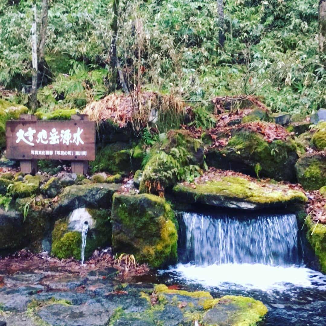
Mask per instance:
[[[203,163],[203,146],[186,130],[170,130],[166,138],[156,144],[150,153],[141,177],[140,192],[159,194],[173,186],[191,168]]]

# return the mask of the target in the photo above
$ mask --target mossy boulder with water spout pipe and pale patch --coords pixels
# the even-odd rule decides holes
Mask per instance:
[[[85,259],[94,250],[111,244],[111,211],[107,209],[78,208],[66,219],[56,221],[52,231],[51,254],[60,259],[81,259],[82,226],[88,223]]]

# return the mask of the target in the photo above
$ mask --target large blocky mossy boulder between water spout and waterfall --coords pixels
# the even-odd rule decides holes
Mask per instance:
[[[157,268],[177,259],[177,222],[170,205],[155,195],[114,194],[112,246]]]

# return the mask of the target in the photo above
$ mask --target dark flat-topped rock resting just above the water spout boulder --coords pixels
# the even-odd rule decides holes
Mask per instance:
[[[112,196],[120,184],[85,184],[66,187],[59,195],[54,215],[69,213],[77,208],[111,208]]]

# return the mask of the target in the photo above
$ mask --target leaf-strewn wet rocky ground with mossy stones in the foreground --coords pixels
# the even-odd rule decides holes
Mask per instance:
[[[27,251],[2,259],[0,320],[8,326],[249,325],[267,313],[252,298],[214,299],[209,292],[155,285],[145,266],[126,271],[114,262],[104,251],[85,266]]]

